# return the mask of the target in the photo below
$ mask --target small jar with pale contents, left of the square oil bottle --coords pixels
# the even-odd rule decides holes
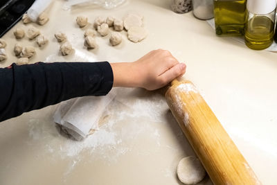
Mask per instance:
[[[213,0],[193,0],[193,15],[197,19],[212,19]]]

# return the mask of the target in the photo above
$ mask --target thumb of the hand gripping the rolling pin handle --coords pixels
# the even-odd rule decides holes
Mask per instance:
[[[167,85],[169,82],[183,75],[185,72],[186,64],[178,63],[174,67],[168,69],[168,71],[161,74],[161,76],[159,76],[159,80],[161,80],[162,85]]]

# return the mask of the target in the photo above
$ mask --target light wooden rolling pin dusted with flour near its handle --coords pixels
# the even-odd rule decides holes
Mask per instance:
[[[215,185],[261,184],[192,82],[173,80],[166,100]]]

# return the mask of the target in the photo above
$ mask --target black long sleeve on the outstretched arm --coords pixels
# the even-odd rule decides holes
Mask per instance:
[[[0,121],[80,96],[103,96],[114,76],[109,62],[54,62],[0,69]]]

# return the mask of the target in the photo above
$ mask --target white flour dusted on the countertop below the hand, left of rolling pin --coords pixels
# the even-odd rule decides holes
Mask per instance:
[[[117,89],[119,94],[107,107],[102,117],[107,116],[105,124],[89,135],[84,141],[73,141],[57,131],[55,124],[39,119],[31,119],[28,123],[29,145],[39,144],[45,152],[50,153],[55,158],[73,159],[64,175],[68,175],[73,168],[82,160],[82,152],[87,151],[91,159],[100,157],[107,163],[116,162],[118,157],[135,148],[138,137],[150,132],[150,139],[161,146],[161,136],[159,130],[153,125],[164,124],[164,116],[168,112],[168,106],[163,96],[154,94],[145,97],[136,97],[128,94],[125,89]],[[134,90],[137,91],[137,90]],[[131,91],[132,92],[132,91]],[[141,120],[139,123],[137,120]],[[118,126],[122,122],[128,124]],[[131,141],[130,145],[125,143]],[[154,149],[141,151],[138,155],[150,155]],[[112,153],[112,155],[111,155]],[[97,158],[97,159],[98,159]]]

